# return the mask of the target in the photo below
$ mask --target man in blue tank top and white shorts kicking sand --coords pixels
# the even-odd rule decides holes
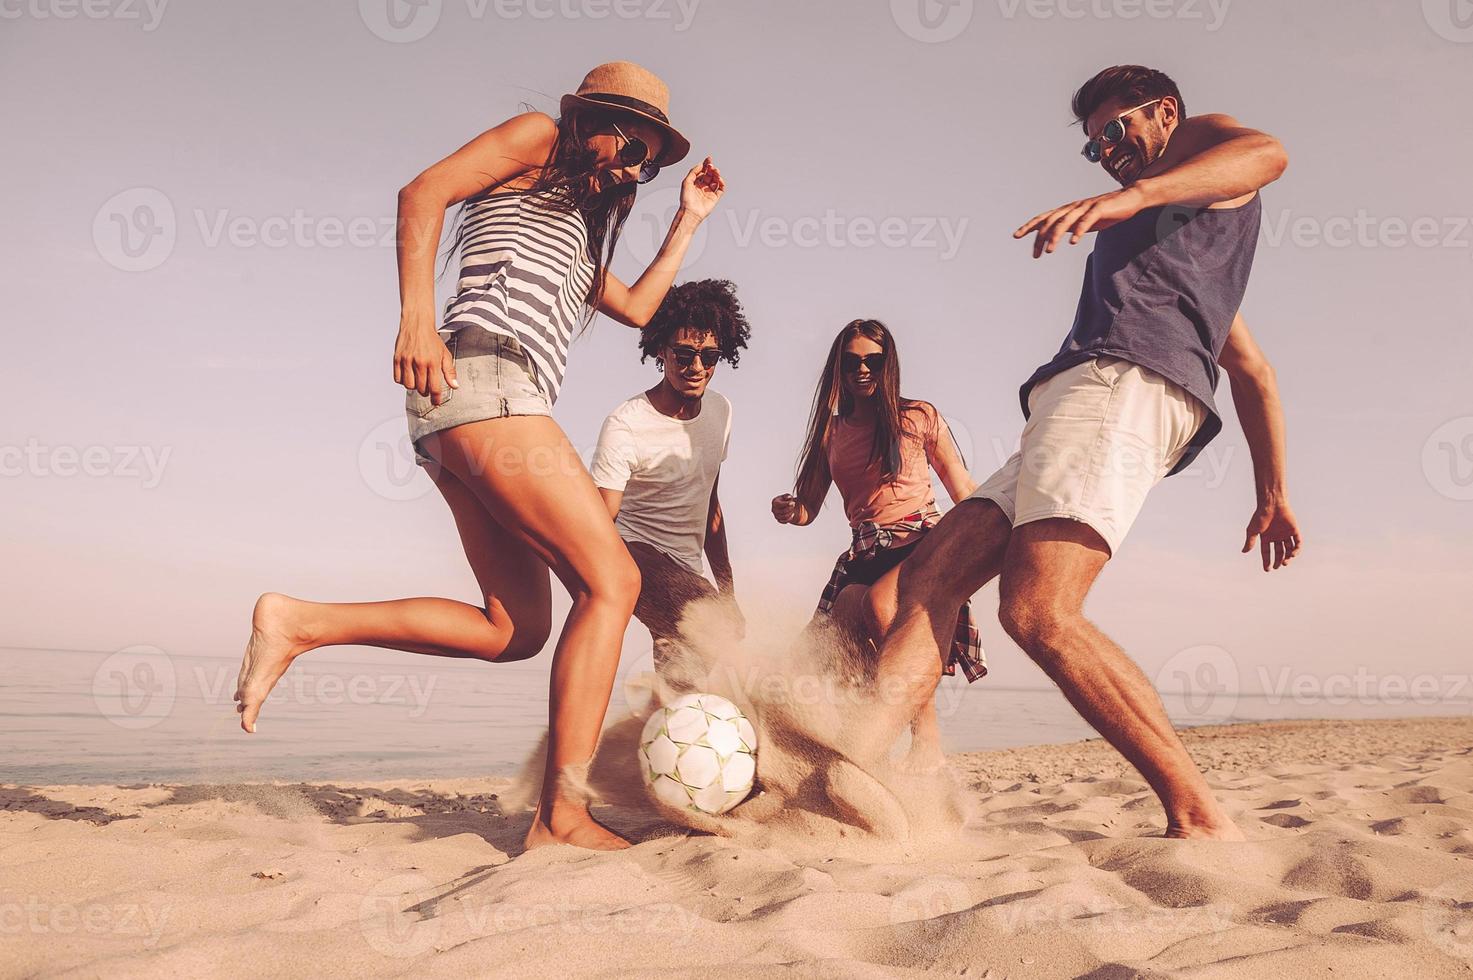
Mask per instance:
[[[903,566],[881,675],[899,694],[878,738],[935,690],[938,643],[960,604],[1000,576],[1009,635],[1161,797],[1167,834],[1242,839],[1140,668],[1084,617],[1084,597],[1146,494],[1221,429],[1218,368],[1252,449],[1258,505],[1243,551],[1262,566],[1301,547],[1284,489],[1273,368],[1237,314],[1259,225],[1259,187],[1284,171],[1273,137],[1231,116],[1187,118],[1171,78],[1108,68],[1074,96],[1084,158],[1121,187],[1046,211],[1013,237],[1034,258],[1096,231],[1074,326],[1019,392],[1021,448],[953,508]],[[878,746],[876,746],[878,747]]]

